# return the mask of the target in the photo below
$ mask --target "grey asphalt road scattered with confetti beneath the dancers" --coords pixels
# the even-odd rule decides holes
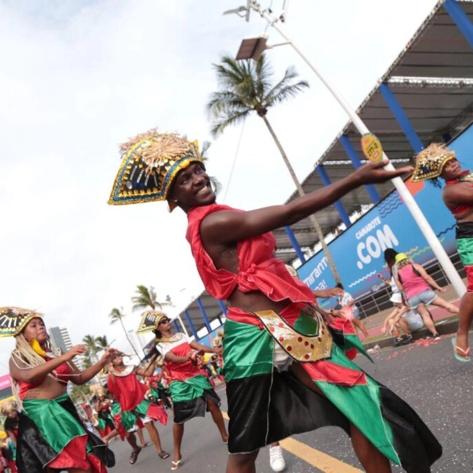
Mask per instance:
[[[433,465],[432,473],[473,473],[473,363],[454,360],[451,337],[445,336],[430,343],[418,341],[400,349],[386,348],[374,354],[373,359],[375,364],[359,355],[356,362],[414,406],[442,443],[444,454]],[[221,389],[219,394],[222,409],[226,411],[224,390]],[[171,423],[166,427],[156,425],[165,449],[171,452]],[[286,445],[295,454],[284,452],[285,471],[288,473],[361,471],[350,440],[341,429],[326,427],[295,436],[295,440],[297,442],[290,440],[291,443]],[[110,469],[111,473],[171,470],[170,459],[160,460],[154,447],[143,449],[135,465],[128,463],[130,447],[126,442],[112,440],[111,447],[117,458],[117,466]],[[337,458],[343,464],[327,462],[318,451]],[[182,453],[184,462],[178,470],[180,473],[225,472],[226,448],[210,416],[186,424]],[[393,472],[402,471],[393,466]],[[257,472],[272,472],[268,449],[262,449],[259,454]]]

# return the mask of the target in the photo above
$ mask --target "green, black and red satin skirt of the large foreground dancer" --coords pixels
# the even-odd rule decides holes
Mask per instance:
[[[298,333],[318,333],[303,306],[280,314]],[[273,367],[276,340],[252,313],[229,308],[225,321],[223,372],[227,381],[230,453],[248,453],[264,445],[324,426],[354,424],[386,458],[408,473],[428,473],[442,447],[420,417],[391,390],[365,374],[345,354],[364,352],[347,320],[329,327],[332,352],[300,365],[322,391],[318,395],[290,371]],[[302,337],[301,337],[302,339]],[[295,361],[297,362],[297,361]]]

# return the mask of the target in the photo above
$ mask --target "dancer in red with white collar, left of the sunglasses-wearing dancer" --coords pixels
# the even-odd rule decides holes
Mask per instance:
[[[137,420],[141,420],[148,430],[158,456],[162,460],[169,458],[169,453],[162,449],[160,434],[153,422],[159,420],[163,425],[166,425],[168,415],[161,406],[145,399],[148,388],[137,378],[137,376],[152,376],[154,370],[153,363],[148,364],[146,368],[126,365],[123,363],[123,354],[117,353],[112,357],[112,370],[107,378],[107,389],[120,405],[120,424],[126,430],[126,438],[132,446],[132,454],[130,455],[132,465],[136,463],[141,451],[135,437]]]

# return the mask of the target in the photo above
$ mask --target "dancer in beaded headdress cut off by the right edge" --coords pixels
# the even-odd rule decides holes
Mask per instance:
[[[473,320],[473,173],[461,169],[455,151],[443,144],[432,143],[418,153],[413,182],[429,180],[440,187],[445,180],[442,200],[456,220],[456,246],[467,273],[467,292],[460,300],[458,332],[452,338],[458,361],[471,361],[468,332]]]

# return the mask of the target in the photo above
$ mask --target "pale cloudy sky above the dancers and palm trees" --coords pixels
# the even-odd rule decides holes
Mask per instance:
[[[216,140],[209,134],[212,64],[236,54],[243,37],[267,30],[269,44],[281,42],[254,12],[248,23],[222,15],[241,3],[0,1],[1,305],[39,309],[76,343],[107,334],[126,349],[107,314],[123,306],[127,328],[137,327],[130,312],[137,284],[154,286],[163,300],[170,294],[178,309],[200,293],[182,212],[168,214],[160,203],[107,206],[119,144],[149,128],[212,141],[207,168],[228,205],[252,209],[291,195],[261,119]],[[436,1],[395,5],[293,0],[283,27],[356,108]],[[273,0],[273,10],[281,6]],[[347,117],[289,46],[268,58],[275,80],[294,66],[310,84],[268,114],[303,180]],[[0,361],[11,347],[1,343]]]

